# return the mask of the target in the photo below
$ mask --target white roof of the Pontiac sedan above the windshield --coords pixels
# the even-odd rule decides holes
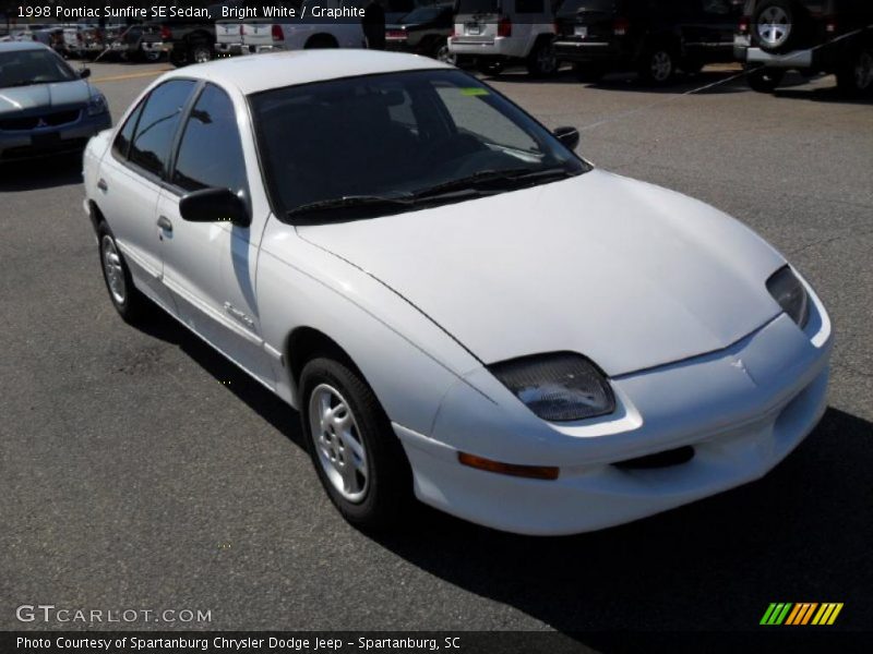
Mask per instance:
[[[239,88],[249,95],[271,88],[357,77],[378,73],[451,69],[429,57],[379,50],[313,49],[256,57],[219,59],[168,73],[170,77],[198,77]]]

